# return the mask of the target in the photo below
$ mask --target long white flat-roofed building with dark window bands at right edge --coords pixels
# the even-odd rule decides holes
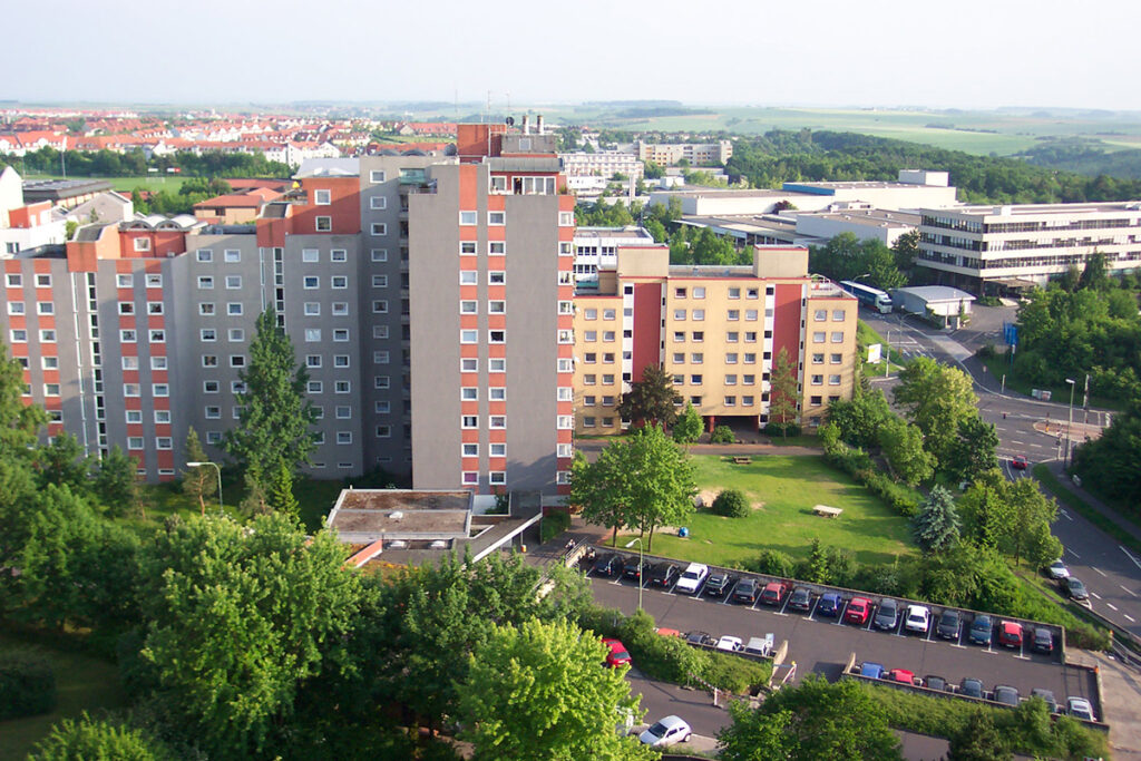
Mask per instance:
[[[1141,201],[923,209],[915,264],[974,293],[1044,284],[1095,252],[1110,273],[1141,267]]]

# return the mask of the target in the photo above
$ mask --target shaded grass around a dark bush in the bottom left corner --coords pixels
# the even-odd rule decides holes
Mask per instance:
[[[27,645],[22,635],[0,632],[0,647]],[[51,713],[0,721],[0,761],[23,760],[60,719],[78,717],[83,711],[95,713],[100,709],[127,705],[127,696],[119,686],[113,663],[46,643],[37,643],[35,647],[47,656],[56,672],[59,702]]]

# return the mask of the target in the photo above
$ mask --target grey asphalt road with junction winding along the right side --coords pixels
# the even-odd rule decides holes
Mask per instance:
[[[1081,390],[1075,397],[1074,423],[1070,426],[1069,399],[1039,402],[1005,391],[1002,379],[993,378],[971,355],[984,343],[998,345],[1003,319],[1013,319],[1013,310],[979,309],[969,329],[954,333],[936,331],[914,319],[899,315],[880,315],[866,308],[860,318],[905,356],[929,356],[940,362],[958,365],[971,373],[979,395],[979,411],[984,420],[995,424],[998,432],[998,455],[1011,478],[1026,473],[1010,469],[1014,455],[1026,456],[1031,464],[1058,460],[1063,450],[1066,429],[1081,442],[1086,434],[1099,435],[1108,423],[1109,414],[1091,410],[1089,415],[1081,407]],[[895,381],[877,381],[888,392]],[[1059,444],[1061,438],[1061,444]],[[1134,634],[1141,637],[1141,558],[1123,548],[1082,516],[1065,508],[1059,509],[1053,525],[1054,535],[1066,548],[1065,560],[1070,572],[1085,582],[1090,590],[1091,607]]]

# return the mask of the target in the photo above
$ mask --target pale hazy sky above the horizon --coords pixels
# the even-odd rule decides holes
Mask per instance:
[[[1141,111],[1136,0],[54,0],[0,100]]]

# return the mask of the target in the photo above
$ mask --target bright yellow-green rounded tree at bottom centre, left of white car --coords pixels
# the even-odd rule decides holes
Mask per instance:
[[[638,698],[605,646],[567,622],[495,626],[459,687],[461,736],[477,759],[654,759],[614,728]],[[636,715],[637,720],[637,715]]]

